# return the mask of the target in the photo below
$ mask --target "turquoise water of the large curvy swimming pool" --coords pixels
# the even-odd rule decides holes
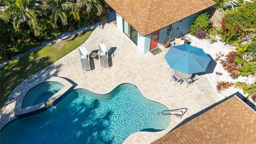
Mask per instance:
[[[171,116],[166,106],[148,100],[132,84],[121,84],[105,95],[77,89],[52,108],[8,124],[1,144],[121,144],[139,131],[158,132]]]

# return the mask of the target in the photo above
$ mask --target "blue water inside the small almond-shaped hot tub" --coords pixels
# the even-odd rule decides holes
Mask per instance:
[[[50,97],[56,94],[64,87],[58,82],[44,82],[38,84],[28,91],[22,102],[22,108],[39,104],[40,102],[47,102]]]

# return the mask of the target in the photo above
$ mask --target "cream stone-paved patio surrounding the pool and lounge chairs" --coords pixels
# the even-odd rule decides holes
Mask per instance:
[[[120,31],[114,22],[102,24],[92,32],[90,38],[82,44],[88,52],[98,50],[98,44],[106,44],[108,50],[114,50],[112,54],[112,66],[101,70],[100,61],[95,60],[95,69],[82,71],[78,48],[70,52],[60,60],[47,68],[34,74],[22,82],[9,96],[7,105],[1,109],[1,128],[6,121],[15,119],[14,106],[16,98],[23,88],[31,82],[51,76],[59,76],[72,80],[77,84],[75,88],[85,88],[98,94],[111,92],[116,86],[129,82],[138,87],[146,98],[160,102],[170,110],[187,108],[186,114],[180,118],[172,117],[170,126],[161,132],[136,132],[129,136],[124,143],[151,143],[164,136],[180,122],[188,121],[206,108],[219,102],[223,97],[219,96],[208,80],[212,74],[196,75],[194,84],[186,88],[186,83],[176,84],[170,82],[170,67],[164,55],[169,48],[161,47],[163,52],[155,56],[150,52],[141,54],[136,46]],[[188,118],[188,119],[186,119]]]

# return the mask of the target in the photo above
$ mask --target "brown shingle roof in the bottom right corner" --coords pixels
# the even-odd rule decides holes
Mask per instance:
[[[255,144],[256,113],[232,97],[152,144]]]

